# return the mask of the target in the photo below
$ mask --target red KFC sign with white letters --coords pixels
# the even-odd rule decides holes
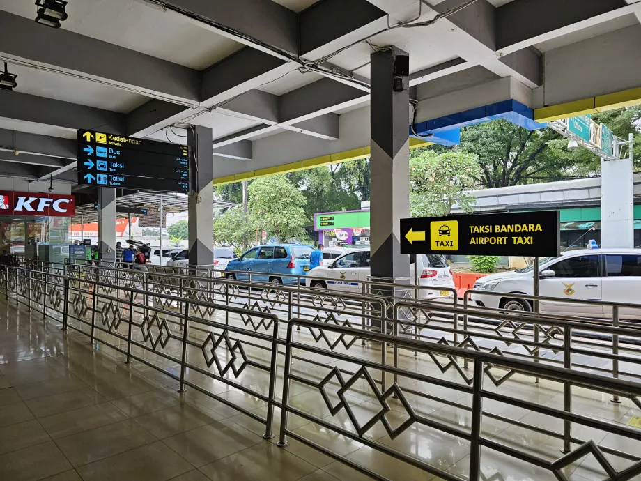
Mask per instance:
[[[75,197],[72,195],[0,191],[0,215],[72,217],[75,211]]]

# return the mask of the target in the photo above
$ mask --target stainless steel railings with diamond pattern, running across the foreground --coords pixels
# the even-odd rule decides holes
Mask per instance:
[[[447,480],[465,476],[396,440],[445,436],[465,448],[470,480],[481,476],[481,448],[557,479],[588,454],[608,479],[641,475],[641,432],[616,422],[641,410],[641,330],[633,323],[100,266],[67,275],[7,268],[0,289],[9,303],[175,379],[180,390],[240,408],[265,424],[265,436],[280,407],[281,445],[295,438],[376,479],[387,479],[380,466],[334,452],[288,416]],[[212,382],[241,397],[213,392]],[[300,399],[304,392],[322,399],[322,412]],[[524,392],[539,394],[528,400]],[[601,417],[586,413],[589,402],[605,403]],[[565,454],[515,447],[500,436],[509,429],[546,436]]]

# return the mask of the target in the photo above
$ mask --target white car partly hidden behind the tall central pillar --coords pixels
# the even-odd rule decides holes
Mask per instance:
[[[418,258],[417,273],[419,285],[428,287],[443,287],[454,289],[454,277],[447,259],[442,255],[420,254]],[[414,261],[415,256],[410,260]],[[410,273],[414,275],[414,263],[410,265]],[[369,280],[371,269],[369,267],[369,249],[350,249],[348,254],[333,261],[323,261],[323,266],[318,266],[309,271],[311,287],[327,289],[341,289],[346,291],[361,292],[362,282]],[[419,297],[422,299],[448,298],[453,296],[451,291],[438,289],[421,289]]]

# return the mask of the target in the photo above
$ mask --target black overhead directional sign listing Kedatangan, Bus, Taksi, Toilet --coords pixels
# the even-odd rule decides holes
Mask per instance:
[[[78,183],[188,192],[187,147],[79,130]]]

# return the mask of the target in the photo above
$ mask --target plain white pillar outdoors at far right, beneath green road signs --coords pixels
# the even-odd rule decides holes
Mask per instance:
[[[633,189],[632,154],[627,159],[601,159],[601,247],[634,247]]]

